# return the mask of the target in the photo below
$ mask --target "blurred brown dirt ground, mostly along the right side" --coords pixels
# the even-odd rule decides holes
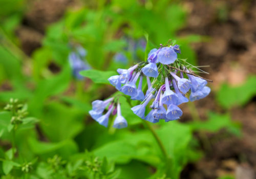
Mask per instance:
[[[182,2],[188,12],[187,26],[179,35],[199,34],[210,37],[207,42],[193,44],[199,65],[210,65],[210,75],[214,80],[212,91],[220,84],[229,82],[239,85],[250,74],[256,74],[256,1],[228,0],[205,1],[186,0]],[[51,6],[50,6],[51,5]],[[58,20],[72,0],[35,1],[26,14],[23,25],[17,30],[23,50],[30,55],[40,47],[46,27]],[[55,7],[58,7],[57,9]],[[196,103],[199,115],[205,118],[206,109],[223,113],[211,93],[207,99]],[[186,106],[183,118],[190,118]],[[211,149],[195,164],[189,164],[181,178],[218,178],[228,174],[236,178],[255,178],[256,171],[256,100],[253,98],[243,107],[230,110],[232,120],[242,124],[241,138],[223,137],[225,131],[212,135],[207,133]],[[184,121],[189,119],[182,119]]]

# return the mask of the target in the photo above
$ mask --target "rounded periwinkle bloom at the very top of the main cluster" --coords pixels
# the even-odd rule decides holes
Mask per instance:
[[[169,47],[164,47],[159,51],[157,59],[162,64],[170,64],[177,59],[177,53]]]

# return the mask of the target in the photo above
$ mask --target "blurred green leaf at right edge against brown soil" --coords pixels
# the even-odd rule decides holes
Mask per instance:
[[[217,101],[225,108],[246,104],[256,95],[256,76],[248,77],[240,86],[223,84],[217,93]]]

